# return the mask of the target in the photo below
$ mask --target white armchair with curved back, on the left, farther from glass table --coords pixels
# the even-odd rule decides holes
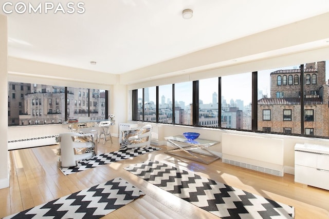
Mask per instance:
[[[60,166],[74,167],[77,162],[95,155],[95,144],[92,135],[76,132],[59,134]]]

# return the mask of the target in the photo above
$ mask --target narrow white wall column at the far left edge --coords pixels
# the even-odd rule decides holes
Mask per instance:
[[[0,189],[9,187],[8,165],[8,29],[7,16],[0,14]]]

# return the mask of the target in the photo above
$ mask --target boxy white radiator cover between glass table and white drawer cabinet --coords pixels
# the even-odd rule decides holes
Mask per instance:
[[[284,175],[282,139],[223,133],[222,153],[223,163],[276,176]]]

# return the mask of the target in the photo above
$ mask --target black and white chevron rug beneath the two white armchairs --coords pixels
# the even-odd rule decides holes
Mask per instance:
[[[61,167],[60,170],[64,175],[69,175],[72,173],[84,171],[90,168],[99,167],[104,164],[109,164],[112,162],[122,161],[131,157],[139,156],[146,153],[151,153],[154,151],[161,150],[157,147],[149,148],[126,148],[123,147],[118,151],[104,153],[100,155],[93,156],[87,160],[78,162],[78,165],[75,167]]]

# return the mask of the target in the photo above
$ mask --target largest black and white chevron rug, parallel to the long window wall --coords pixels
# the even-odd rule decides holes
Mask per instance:
[[[294,218],[295,208],[157,161],[125,170],[221,218]]]

